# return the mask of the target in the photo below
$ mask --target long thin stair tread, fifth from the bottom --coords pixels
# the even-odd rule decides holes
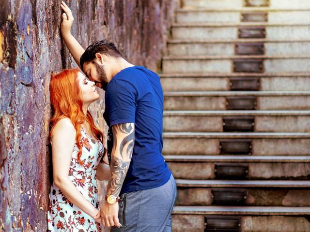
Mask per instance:
[[[310,116],[310,110],[165,110],[164,116]]]

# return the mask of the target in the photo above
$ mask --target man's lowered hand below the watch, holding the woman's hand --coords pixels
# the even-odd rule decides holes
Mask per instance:
[[[104,226],[116,226],[121,227],[118,220],[118,203],[109,204],[108,202],[104,202],[100,208],[100,214],[97,214],[95,219],[101,217],[102,225]]]

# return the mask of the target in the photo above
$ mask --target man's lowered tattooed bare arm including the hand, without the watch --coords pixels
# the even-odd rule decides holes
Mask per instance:
[[[135,124],[122,123],[112,127],[113,149],[111,154],[110,177],[107,195],[118,197],[132,158],[135,142]],[[101,219],[106,226],[120,226],[118,220],[118,203],[109,204],[106,201],[101,207]]]

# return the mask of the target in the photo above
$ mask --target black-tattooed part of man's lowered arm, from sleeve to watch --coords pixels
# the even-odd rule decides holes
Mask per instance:
[[[117,196],[121,192],[132,158],[132,151],[135,143],[135,131],[132,123],[117,124],[113,126],[112,131],[114,143],[107,194]],[[120,137],[122,138],[121,141]],[[114,155],[117,148],[120,156]]]

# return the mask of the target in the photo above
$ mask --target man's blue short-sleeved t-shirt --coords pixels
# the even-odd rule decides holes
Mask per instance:
[[[159,76],[142,66],[126,68],[109,82],[105,101],[109,128],[135,123],[133,155],[120,194],[164,185],[171,171],[161,154],[164,97]],[[108,140],[111,135],[109,131]],[[108,141],[108,155],[112,144]]]

